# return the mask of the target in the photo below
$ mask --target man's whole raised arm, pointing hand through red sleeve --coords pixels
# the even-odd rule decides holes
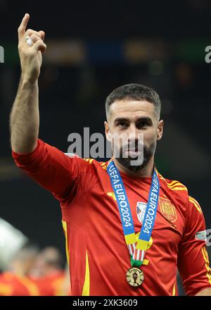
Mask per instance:
[[[37,81],[46,44],[44,31],[26,30],[29,18],[25,14],[18,28],[21,77],[10,118],[12,154],[19,168],[64,204],[75,196],[79,183],[85,186],[84,175],[91,165],[38,139]]]

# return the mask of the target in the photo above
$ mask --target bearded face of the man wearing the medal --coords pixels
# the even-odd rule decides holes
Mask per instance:
[[[163,121],[158,121],[150,102],[125,99],[111,104],[105,128],[115,159],[130,171],[139,171],[154,156],[156,142],[162,137]],[[117,140],[113,136],[123,138]]]

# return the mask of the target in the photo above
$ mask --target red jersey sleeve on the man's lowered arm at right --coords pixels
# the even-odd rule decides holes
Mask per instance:
[[[177,266],[187,295],[211,287],[211,272],[206,250],[205,218],[198,202],[188,197],[186,231],[179,245]]]

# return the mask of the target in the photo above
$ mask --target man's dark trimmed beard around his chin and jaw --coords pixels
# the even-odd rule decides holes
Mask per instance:
[[[152,143],[150,147],[143,147],[143,161],[138,163],[136,166],[131,165],[131,161],[136,161],[138,157],[131,158],[130,156],[127,158],[123,158],[122,156],[122,149],[120,149],[120,157],[116,158],[118,163],[120,163],[121,166],[126,168],[129,171],[140,171],[141,169],[145,168],[148,161],[152,158],[152,156],[155,154],[156,149],[156,142]]]

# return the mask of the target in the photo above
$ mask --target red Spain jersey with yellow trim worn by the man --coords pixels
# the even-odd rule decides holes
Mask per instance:
[[[132,287],[126,280],[130,257],[108,163],[67,156],[41,140],[32,153],[13,152],[13,158],[60,202],[72,295],[177,295],[177,268],[186,294],[211,287],[203,212],[180,182],[158,173],[159,204],[141,266],[144,281]],[[138,239],[152,178],[120,175]]]

